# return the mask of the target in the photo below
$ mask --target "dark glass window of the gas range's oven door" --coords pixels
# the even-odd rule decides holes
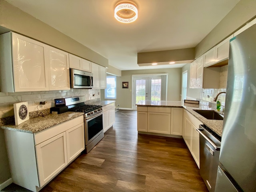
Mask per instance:
[[[102,115],[88,121],[88,140],[103,130]]]

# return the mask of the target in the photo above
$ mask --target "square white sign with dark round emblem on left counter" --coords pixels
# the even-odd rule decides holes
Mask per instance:
[[[14,103],[14,118],[15,118],[15,125],[19,125],[26,120],[29,120],[29,114],[28,114],[28,102],[20,102],[20,103]]]

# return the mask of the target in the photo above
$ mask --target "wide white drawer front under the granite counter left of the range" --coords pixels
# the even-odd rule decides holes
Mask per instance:
[[[80,123],[83,123],[83,122],[84,122],[84,116],[82,115],[77,118],[63,122],[61,124],[52,126],[51,128],[37,132],[34,134],[35,145],[40,144],[40,143],[44,142],[45,140],[48,140],[62,132],[65,132],[66,130],[68,130]]]

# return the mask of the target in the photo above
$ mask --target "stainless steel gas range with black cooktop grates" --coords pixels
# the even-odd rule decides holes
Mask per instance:
[[[85,152],[88,153],[104,137],[102,106],[85,104],[85,96],[64,100],[69,111],[84,112]]]

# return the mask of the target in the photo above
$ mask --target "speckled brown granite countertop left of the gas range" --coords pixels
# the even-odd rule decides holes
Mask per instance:
[[[45,117],[38,116],[31,118],[19,125],[3,125],[1,128],[20,132],[36,133],[81,115],[84,115],[84,113],[65,112],[62,114],[48,114]]]

